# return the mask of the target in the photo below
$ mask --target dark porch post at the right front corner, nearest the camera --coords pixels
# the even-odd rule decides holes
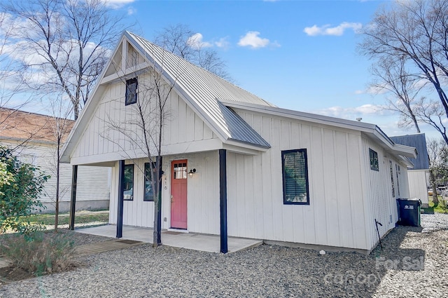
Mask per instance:
[[[221,252],[228,252],[227,238],[227,150],[219,149],[219,210],[221,224]]]

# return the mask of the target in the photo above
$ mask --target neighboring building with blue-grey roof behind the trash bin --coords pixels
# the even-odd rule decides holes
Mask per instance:
[[[424,133],[414,135],[398,135],[391,137],[396,144],[415,147],[416,158],[409,158],[414,164],[414,168],[409,169],[407,177],[409,179],[409,198],[419,198],[423,206],[428,206],[428,175],[429,156],[426,148],[426,137]]]

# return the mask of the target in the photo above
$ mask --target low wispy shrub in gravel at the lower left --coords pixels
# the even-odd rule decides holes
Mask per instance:
[[[66,233],[44,233],[5,236],[0,244],[0,253],[29,273],[39,276],[44,273],[66,271],[74,266],[74,241]]]

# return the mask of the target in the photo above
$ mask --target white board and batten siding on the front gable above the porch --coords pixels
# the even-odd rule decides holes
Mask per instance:
[[[218,137],[174,90],[169,95],[167,114],[162,155],[214,150],[221,145]],[[110,83],[76,145],[71,163],[100,163],[146,156],[142,146],[136,146],[128,137],[131,135],[137,140],[143,135],[135,124],[139,122],[137,117],[135,104],[125,106],[125,83]],[[120,126],[122,132],[113,126]]]

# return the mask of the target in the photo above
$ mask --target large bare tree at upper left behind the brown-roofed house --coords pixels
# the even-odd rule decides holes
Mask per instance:
[[[29,87],[60,90],[76,120],[123,30],[120,20],[102,0],[11,1],[2,8],[19,20],[13,58],[27,67]]]

